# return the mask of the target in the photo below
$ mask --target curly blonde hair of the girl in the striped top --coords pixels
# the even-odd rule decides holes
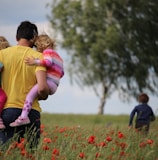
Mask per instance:
[[[48,35],[42,34],[37,36],[34,45],[37,48],[37,51],[43,52],[45,49],[55,48],[55,40],[51,39]]]

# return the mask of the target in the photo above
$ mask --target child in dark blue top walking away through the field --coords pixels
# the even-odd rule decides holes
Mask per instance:
[[[150,122],[155,120],[155,115],[152,108],[147,104],[149,97],[147,94],[142,93],[138,96],[139,105],[135,106],[130,114],[129,127],[132,127],[133,118],[135,113],[137,113],[135,128],[138,131],[144,131],[145,134],[148,133]]]

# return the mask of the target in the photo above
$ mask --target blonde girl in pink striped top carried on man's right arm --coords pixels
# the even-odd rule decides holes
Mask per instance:
[[[64,75],[63,60],[59,54],[53,50],[55,41],[48,35],[40,35],[35,40],[35,46],[39,52],[43,53],[43,60],[33,57],[26,57],[25,63],[28,65],[41,65],[47,68],[47,84],[50,89],[50,95],[54,94],[58,88],[60,79]],[[11,127],[21,126],[30,123],[28,114],[32,107],[33,100],[38,96],[37,84],[28,93],[21,115],[12,123]]]

